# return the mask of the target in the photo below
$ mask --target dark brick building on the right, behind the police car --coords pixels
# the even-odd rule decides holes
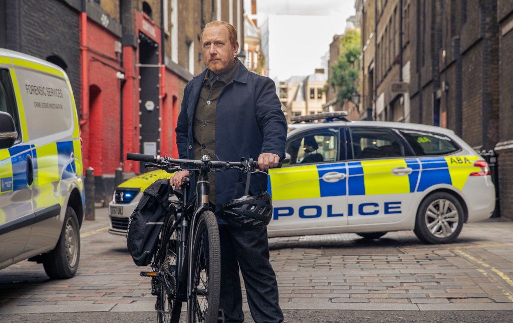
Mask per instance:
[[[506,62],[513,1],[357,0],[355,7],[363,107],[374,119],[445,127],[475,149],[496,149],[501,213],[511,217],[505,211],[513,198]]]

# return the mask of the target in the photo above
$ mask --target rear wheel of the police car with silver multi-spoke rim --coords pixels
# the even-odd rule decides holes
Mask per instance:
[[[464,211],[452,194],[436,192],[420,204],[413,232],[426,244],[447,244],[463,229]]]

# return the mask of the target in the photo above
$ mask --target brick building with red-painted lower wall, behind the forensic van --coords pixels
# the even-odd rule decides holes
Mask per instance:
[[[143,170],[127,152],[177,157],[182,93],[205,68],[201,32],[224,20],[243,44],[242,2],[0,0],[0,47],[47,59],[70,78],[96,201],[112,198],[116,168]]]

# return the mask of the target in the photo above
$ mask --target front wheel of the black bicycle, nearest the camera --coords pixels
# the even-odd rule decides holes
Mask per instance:
[[[191,322],[217,323],[221,289],[219,228],[211,211],[198,218],[192,245],[192,297],[187,306]]]

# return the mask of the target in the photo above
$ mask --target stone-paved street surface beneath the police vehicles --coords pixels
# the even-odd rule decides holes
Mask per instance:
[[[149,278],[107,232],[107,208],[81,229],[75,277],[51,280],[29,261],[0,271],[0,314],[153,312]],[[280,306],[287,310],[513,310],[513,221],[464,226],[449,245],[411,231],[365,240],[356,234],[269,239]],[[245,310],[247,306],[245,305]]]

